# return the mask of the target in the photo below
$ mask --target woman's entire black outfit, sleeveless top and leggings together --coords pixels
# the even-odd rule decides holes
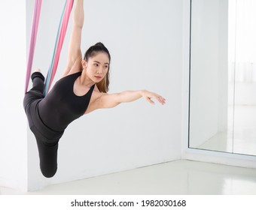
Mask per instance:
[[[23,106],[30,130],[35,135],[42,174],[50,178],[57,170],[58,142],[66,127],[76,118],[84,115],[93,93],[93,85],[83,96],[73,91],[75,80],[81,72],[63,77],[44,97],[44,76],[32,74],[32,89],[26,93]]]

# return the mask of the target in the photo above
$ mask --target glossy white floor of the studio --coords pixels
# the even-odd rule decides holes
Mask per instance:
[[[126,172],[56,184],[35,192],[0,187],[5,195],[256,195],[256,169],[175,160]]]

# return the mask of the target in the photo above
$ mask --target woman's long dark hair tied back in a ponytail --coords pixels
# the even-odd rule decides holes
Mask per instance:
[[[108,52],[108,49],[104,46],[103,43],[98,42],[93,46],[90,46],[89,49],[87,49],[87,52],[84,54],[84,60],[88,61],[89,58],[93,57],[96,55],[98,52],[105,52],[108,55],[109,59],[109,65],[110,65],[110,60],[111,56],[110,53]],[[109,65],[108,65],[108,73],[105,75],[103,80],[101,80],[99,83],[96,83],[96,86],[99,89],[99,92],[108,92],[108,86],[109,86]]]

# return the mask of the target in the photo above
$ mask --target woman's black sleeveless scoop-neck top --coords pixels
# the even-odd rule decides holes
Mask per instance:
[[[63,131],[87,110],[94,86],[83,96],[75,95],[74,83],[81,72],[62,77],[38,104],[42,122],[52,130]]]

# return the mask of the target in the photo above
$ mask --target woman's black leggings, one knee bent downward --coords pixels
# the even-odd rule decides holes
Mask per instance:
[[[52,130],[41,121],[38,104],[44,98],[44,76],[40,72],[35,72],[31,79],[33,87],[26,93],[23,106],[29,121],[29,128],[34,133],[38,145],[41,172],[45,177],[50,178],[57,170],[58,142],[63,131]]]

